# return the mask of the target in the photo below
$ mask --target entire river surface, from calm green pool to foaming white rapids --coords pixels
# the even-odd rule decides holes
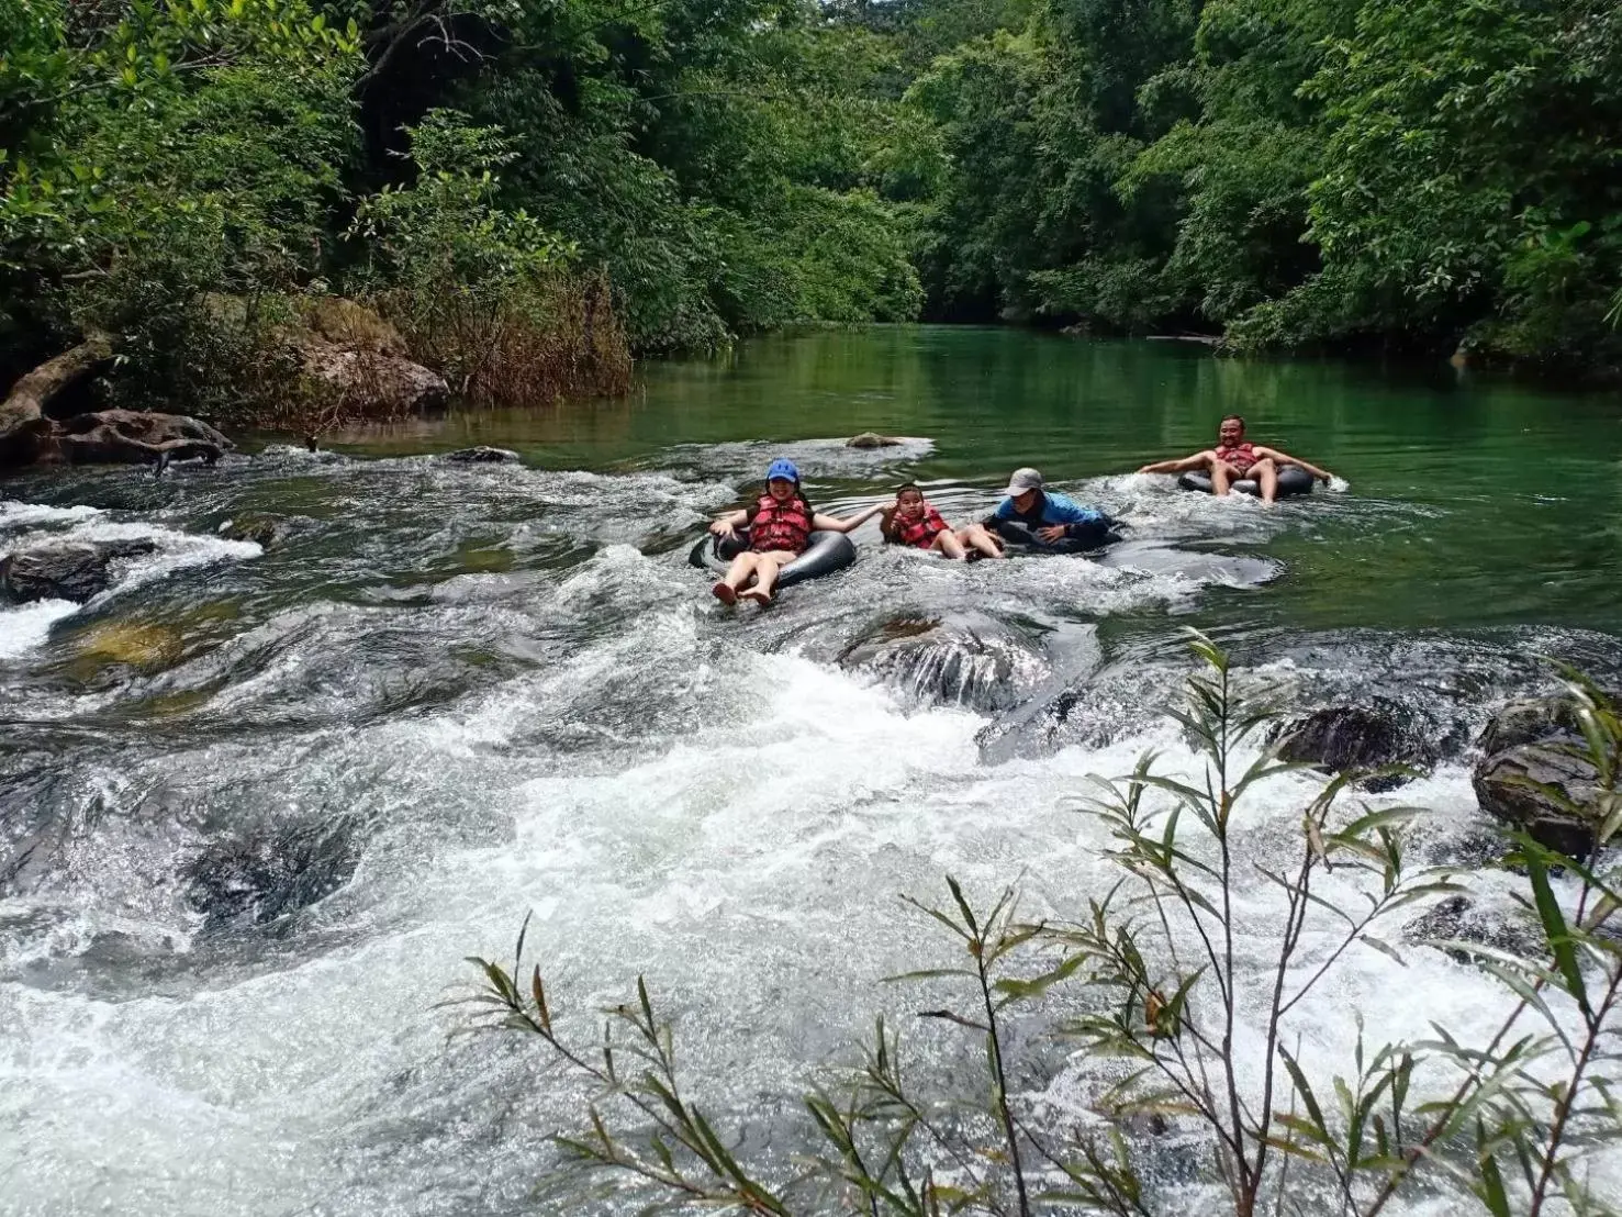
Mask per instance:
[[[1345,487],[1268,511],[1124,472],[1228,411]],[[910,438],[840,443],[861,430]],[[0,495],[0,552],[159,545],[89,605],[0,608],[0,1212],[537,1211],[579,1095],[435,1008],[526,912],[563,1017],[646,974],[696,1094],[753,1120],[749,1150],[793,1147],[796,1087],[918,1008],[876,982],[946,949],[897,892],[950,871],[1074,914],[1108,881],[1071,805],[1147,746],[1187,761],[1160,714],[1182,626],[1286,704],[1379,698],[1442,740],[1384,800],[1435,808],[1437,860],[1481,850],[1470,738],[1538,656],[1622,669],[1616,398],[874,329],[352,440]],[[469,443],[524,464],[427,456]],[[1132,539],[962,566],[869,524],[850,571],[723,610],[686,548],[777,454],[821,510],[916,479],[955,521],[1033,462]],[[216,535],[247,514],[281,521],[268,552]],[[985,644],[890,662],[887,623],[938,617]],[[1257,795],[1260,855],[1309,789]],[[1257,959],[1268,901],[1241,909]],[[1298,1013],[1322,1077],[1358,1008],[1398,1039],[1504,1001],[1440,956],[1354,953]]]

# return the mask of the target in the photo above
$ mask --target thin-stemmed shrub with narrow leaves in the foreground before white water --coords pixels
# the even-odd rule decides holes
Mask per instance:
[[[553,1199],[576,1196],[581,1176],[607,1175],[607,1194],[628,1204],[779,1217],[1150,1217],[1205,1209],[1215,1196],[1238,1217],[1375,1217],[1393,1199],[1439,1189],[1494,1217],[1607,1211],[1588,1160],[1622,1147],[1611,1089],[1622,1064],[1622,871],[1517,839],[1500,865],[1523,876],[1517,899],[1536,944],[1427,944],[1502,985],[1510,1013],[1489,1040],[1455,1039],[1439,1011],[1432,1039],[1384,1043],[1359,1017],[1351,1060],[1332,1066],[1340,1073],[1328,1082],[1314,1068],[1314,1081],[1299,1060],[1311,1032],[1302,1000],[1333,987],[1350,951],[1400,957],[1382,922],[1461,889],[1447,868],[1411,862],[1419,810],[1341,808],[1358,774],[1302,808],[1294,857],[1268,865],[1247,823],[1249,792],[1304,766],[1264,750],[1239,768],[1238,750],[1270,716],[1241,693],[1226,656],[1204,638],[1194,649],[1202,669],[1173,717],[1204,774],[1173,779],[1145,756],[1100,785],[1090,815],[1119,878],[1090,892],[1074,922],[1028,922],[1012,891],[980,909],[950,878],[949,902],[908,901],[946,930],[950,954],[899,980],[960,990],[920,1017],[981,1045],[973,1087],[903,1071],[900,1039],[881,1021],[855,1069],[805,1095],[814,1152],[793,1165],[740,1160],[736,1147],[757,1139],[717,1129],[688,1099],[673,1029],[641,980],[592,1037],[539,965],[524,974],[522,933],[511,969],[474,961],[477,1022],[535,1037],[551,1066],[590,1089],[579,1128],[556,1137],[566,1165],[548,1180]],[[1591,685],[1567,688],[1601,779],[1586,815],[1604,847],[1622,828],[1622,716]],[[1249,922],[1255,876],[1278,899],[1272,935]],[[1046,1103],[1009,1079],[1015,1045],[1032,1042],[1030,1022],[1053,1019],[1061,995],[1069,1013],[1048,1030],[1077,1045],[1066,1068],[1075,1086]],[[1027,1022],[1017,1035],[1015,1019]]]

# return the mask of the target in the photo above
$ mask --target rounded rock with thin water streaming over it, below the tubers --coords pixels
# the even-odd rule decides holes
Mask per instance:
[[[925,701],[1006,709],[1051,670],[1028,631],[986,613],[908,615],[884,621],[839,657]]]

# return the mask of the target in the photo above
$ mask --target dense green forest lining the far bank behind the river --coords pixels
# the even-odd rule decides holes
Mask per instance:
[[[1622,365],[1614,0],[0,0],[0,29],[6,378],[107,333],[122,393],[225,412],[331,295],[487,399],[800,321]]]

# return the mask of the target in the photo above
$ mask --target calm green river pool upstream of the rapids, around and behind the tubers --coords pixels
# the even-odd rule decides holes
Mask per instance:
[[[959,497],[967,519],[1020,464],[1121,506],[1131,490],[1111,495],[1096,479],[1208,446],[1228,412],[1350,493],[1320,490],[1309,521],[1244,545],[1286,563],[1288,576],[1262,600],[1207,605],[1210,628],[1622,631],[1622,399],[1447,365],[1229,360],[1176,342],[1017,329],[826,331],[647,363],[628,401],[453,415],[357,436],[352,451],[491,443],[545,467],[618,469],[657,466],[670,445],[925,436],[933,451],[899,467],[978,490]],[[819,488],[856,500],[889,482],[835,477]]]

